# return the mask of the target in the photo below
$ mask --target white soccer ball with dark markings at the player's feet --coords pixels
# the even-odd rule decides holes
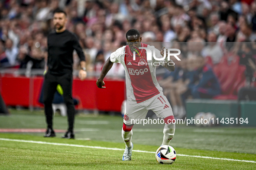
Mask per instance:
[[[159,164],[172,164],[176,159],[176,151],[172,146],[162,145],[156,150],[156,161]]]

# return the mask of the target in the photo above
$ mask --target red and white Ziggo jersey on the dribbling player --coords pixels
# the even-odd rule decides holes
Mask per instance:
[[[141,43],[141,47],[148,47],[152,55],[155,50],[156,57],[162,57],[154,46]],[[146,50],[139,50],[139,54],[136,52],[135,60],[133,60],[133,51],[128,45],[118,48],[110,55],[112,63],[121,63],[125,69],[126,95],[130,103],[140,103],[162,93],[162,88],[156,80],[156,66],[163,65],[163,62],[167,61],[156,61],[153,56],[152,60],[147,60]]]

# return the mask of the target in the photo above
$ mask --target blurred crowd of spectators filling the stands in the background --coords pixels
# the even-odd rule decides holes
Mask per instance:
[[[178,71],[169,75],[171,79],[160,82],[164,87],[173,84],[165,91],[167,95],[175,94],[173,90],[184,95],[191,81],[196,85],[206,81],[202,84],[210,83],[213,89],[204,97],[221,93],[229,95],[229,99],[245,83],[255,82],[253,0],[0,0],[0,67],[26,68],[32,61],[32,68],[45,68],[47,35],[53,30],[52,12],[57,8],[68,14],[67,29],[80,40],[88,72],[100,72],[110,53],[126,44],[126,31],[136,28],[143,42],[171,42],[172,47],[181,49],[182,62],[176,63]],[[78,63],[74,53],[74,69]],[[113,67],[109,75],[124,74],[120,64]],[[203,76],[198,74],[197,81],[186,82],[183,78],[178,90],[175,83],[170,83],[182,77],[180,71],[198,67]],[[210,77],[217,77],[216,83],[204,79],[209,79],[208,72]],[[240,76],[239,80],[232,75]],[[204,93],[204,89],[199,91]],[[191,95],[202,97],[192,88]]]

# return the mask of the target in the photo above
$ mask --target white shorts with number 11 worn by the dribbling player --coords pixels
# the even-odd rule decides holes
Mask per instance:
[[[136,104],[126,102],[126,111],[123,116],[123,123],[131,125],[131,120],[145,119],[148,110],[156,113],[156,116],[164,119],[173,116],[172,107],[163,94],[158,94],[146,101]]]

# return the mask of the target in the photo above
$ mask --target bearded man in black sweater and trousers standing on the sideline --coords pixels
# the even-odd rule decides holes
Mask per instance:
[[[53,24],[55,30],[48,35],[48,60],[47,73],[45,74],[44,105],[46,123],[48,125],[45,137],[55,137],[52,128],[52,100],[57,85],[63,89],[63,98],[68,111],[68,131],[62,138],[75,139],[73,125],[75,119],[75,106],[72,99],[72,71],[73,51],[76,50],[80,58],[81,70],[79,78],[84,80],[87,76],[85,69],[85,57],[75,34],[66,30],[67,14],[57,9],[54,12]]]

